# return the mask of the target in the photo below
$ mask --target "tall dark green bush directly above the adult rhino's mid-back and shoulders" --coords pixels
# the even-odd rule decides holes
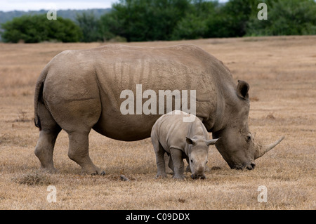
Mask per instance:
[[[190,0],[121,0],[101,18],[103,34],[127,41],[169,40],[189,7]]]

